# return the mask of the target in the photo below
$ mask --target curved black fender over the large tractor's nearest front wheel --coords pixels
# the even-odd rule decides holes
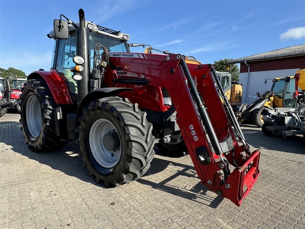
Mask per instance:
[[[79,104],[78,110],[77,110],[77,117],[81,115],[81,112],[83,108],[92,100],[94,99],[101,99],[105,97],[110,97],[117,95],[120,92],[123,91],[133,91],[134,89],[131,88],[122,88],[122,87],[106,87],[106,88],[98,88],[91,92],[89,92],[84,99]]]

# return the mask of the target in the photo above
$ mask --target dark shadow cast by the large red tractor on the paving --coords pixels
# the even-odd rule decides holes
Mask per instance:
[[[8,146],[10,150],[13,150],[16,153],[19,153],[31,160],[35,160],[40,164],[48,165],[52,169],[59,170],[65,173],[68,176],[76,177],[84,182],[102,187],[105,187],[103,183],[96,183],[93,177],[88,176],[88,169],[86,167],[82,167],[83,158],[78,156],[79,146],[75,142],[68,143],[65,147],[58,151],[52,152],[43,152],[43,153],[35,153],[30,151],[27,148],[27,145],[24,143],[24,138],[22,138],[22,131],[20,130],[21,123],[14,121],[5,121],[0,122],[0,142],[3,142]],[[159,153],[158,148],[154,148],[156,153]],[[189,156],[186,156],[189,157]],[[168,159],[168,160],[167,160]],[[222,201],[223,198],[216,196],[209,197],[206,195],[207,189],[203,184],[201,184],[196,171],[193,166],[181,164],[177,161],[176,158],[167,158],[160,156],[155,157],[151,162],[151,167],[149,170],[138,180],[140,184],[148,185],[154,189],[162,190],[169,194],[179,196],[182,198],[186,198],[198,203],[207,202],[206,205],[216,208]],[[150,175],[154,175],[156,173],[160,173],[167,168],[168,166],[178,166],[181,167],[177,169],[176,173],[172,176],[168,177],[164,175],[164,180],[160,182],[154,182],[149,179]],[[147,176],[147,177],[146,177]],[[172,181],[178,176],[186,176],[188,178],[196,178],[198,183],[193,187],[180,187],[176,182]],[[172,181],[172,182],[171,182]],[[111,188],[111,187],[109,187]]]

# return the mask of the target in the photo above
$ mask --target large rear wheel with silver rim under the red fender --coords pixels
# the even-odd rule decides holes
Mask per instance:
[[[53,112],[56,103],[42,79],[24,83],[21,97],[21,129],[28,148],[34,152],[54,151],[67,144],[55,135]]]

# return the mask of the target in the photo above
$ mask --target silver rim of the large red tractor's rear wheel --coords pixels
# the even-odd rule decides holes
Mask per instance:
[[[30,134],[33,137],[38,137],[41,132],[42,118],[40,103],[34,95],[31,95],[27,100],[26,119]]]

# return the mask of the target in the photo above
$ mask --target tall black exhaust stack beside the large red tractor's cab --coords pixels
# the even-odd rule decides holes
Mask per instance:
[[[82,64],[84,70],[81,72],[83,78],[77,81],[77,95],[78,101],[84,99],[88,94],[89,88],[89,30],[86,28],[85,13],[83,9],[78,10],[79,27],[76,28],[76,55],[84,58],[85,62]]]

